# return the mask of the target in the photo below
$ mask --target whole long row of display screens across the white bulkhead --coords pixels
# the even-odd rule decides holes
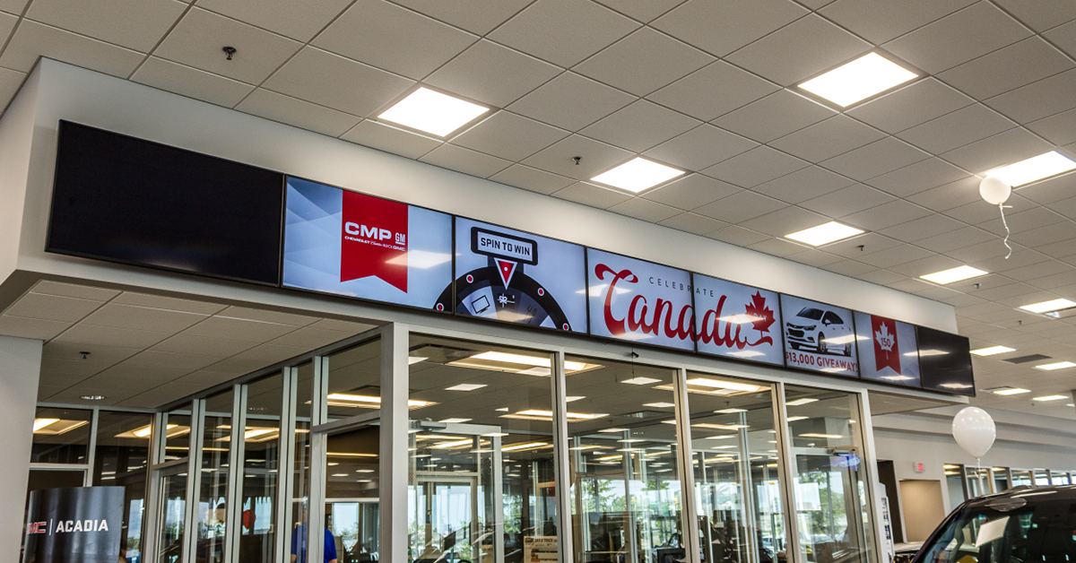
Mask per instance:
[[[105,145],[109,136],[124,141],[119,143],[123,154],[110,156],[98,150],[91,163],[96,177],[124,179],[124,192],[160,189],[162,186],[155,182],[169,178],[166,172],[175,166],[173,161],[197,167],[199,159],[204,159],[220,167],[221,160],[67,122],[61,122],[48,252],[256,283],[268,281],[264,269],[246,266],[258,275],[244,279],[240,270],[226,269],[228,261],[220,257],[186,263],[155,259],[155,252],[175,255],[171,249],[197,244],[202,250],[208,239],[204,233],[213,233],[218,239],[212,250],[221,256],[280,256],[271,265],[278,271],[274,284],[288,290],[587,334],[840,378],[975,394],[968,340],[958,335],[246,165],[235,165],[244,167],[240,170],[241,185],[212,183],[216,192],[224,193],[214,195],[215,200],[210,202],[184,201],[207,198],[204,191],[167,186],[175,192],[170,195],[174,206],[211,212],[203,213],[199,221],[184,220],[183,229],[169,230],[168,223],[180,220],[158,211],[155,219],[165,235],[156,233],[152,245],[143,244],[141,254],[117,252],[125,244],[139,248],[141,235],[137,231],[103,237],[107,243],[87,245],[83,239],[57,233],[108,233],[114,227],[104,222],[115,221],[116,212],[138,214],[139,210],[130,209],[130,205],[118,211],[111,209],[108,199],[112,196],[105,184],[80,180],[86,165],[71,155],[80,154],[79,143],[85,139],[100,143],[103,138]],[[144,152],[152,159],[141,157],[139,143],[145,145]],[[279,182],[275,187],[273,181]],[[76,212],[70,203],[71,194],[80,193],[81,183],[95,188],[91,195],[81,193],[76,198],[79,206],[89,210],[86,213]],[[237,194],[227,194],[228,189]],[[244,208],[235,207],[237,199],[252,193],[261,198],[257,216],[263,223],[272,223],[266,217],[275,209],[275,240],[265,235],[256,241],[227,236],[227,230],[233,228],[227,217],[243,215],[237,209]],[[271,194],[277,194],[275,207]],[[142,205],[152,202],[150,198]],[[109,212],[96,211],[99,208]],[[63,217],[62,226],[56,224],[58,217]],[[198,228],[192,229],[188,223]],[[272,225],[259,228],[271,231]],[[225,269],[214,270],[214,265],[224,265]]]

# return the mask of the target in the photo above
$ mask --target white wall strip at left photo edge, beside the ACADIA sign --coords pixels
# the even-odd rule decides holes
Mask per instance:
[[[41,340],[0,336],[0,561],[18,561],[30,476]],[[6,554],[5,554],[6,553]]]

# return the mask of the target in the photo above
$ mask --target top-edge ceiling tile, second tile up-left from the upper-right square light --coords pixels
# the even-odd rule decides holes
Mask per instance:
[[[789,0],[691,0],[651,25],[723,57],[805,14]]]

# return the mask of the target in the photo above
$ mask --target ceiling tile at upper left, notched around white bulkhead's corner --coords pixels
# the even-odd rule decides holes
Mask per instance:
[[[29,72],[39,57],[125,79],[144,58],[136,51],[24,19],[8,41],[8,46],[0,56],[0,66]]]

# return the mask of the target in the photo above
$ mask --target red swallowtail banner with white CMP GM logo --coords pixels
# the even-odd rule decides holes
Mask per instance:
[[[340,281],[374,276],[407,292],[408,206],[344,192]]]

